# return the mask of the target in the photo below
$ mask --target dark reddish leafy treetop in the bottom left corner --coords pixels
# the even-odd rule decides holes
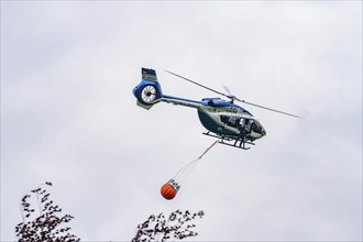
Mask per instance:
[[[45,183],[52,186],[52,183]],[[36,198],[37,208],[32,206],[30,199]],[[34,204],[34,202],[33,202]],[[54,205],[45,188],[40,187],[24,195],[21,200],[21,212],[23,222],[15,227],[19,242],[76,242],[80,241],[76,235],[69,233],[70,228],[64,223],[74,219],[70,215],[61,217],[62,208]]]

